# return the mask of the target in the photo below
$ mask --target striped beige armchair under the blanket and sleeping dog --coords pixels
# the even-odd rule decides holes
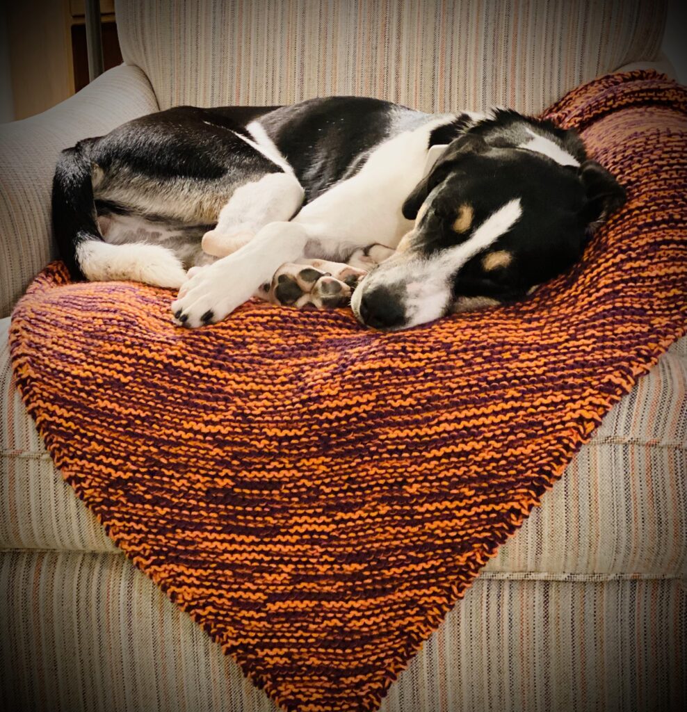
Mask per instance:
[[[519,7],[519,11],[514,8]],[[0,702],[276,711],[107,538],[14,388],[9,314],[54,257],[58,152],[182,103],[376,95],[540,112],[653,62],[664,2],[120,0],[125,64],[0,128]],[[392,686],[384,712],[672,710],[685,688],[687,339],[604,419]]]

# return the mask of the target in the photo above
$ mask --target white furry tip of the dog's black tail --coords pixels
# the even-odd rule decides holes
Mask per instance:
[[[160,245],[110,245],[87,240],[76,248],[81,271],[92,282],[132,280],[178,289],[186,279],[182,263]]]

